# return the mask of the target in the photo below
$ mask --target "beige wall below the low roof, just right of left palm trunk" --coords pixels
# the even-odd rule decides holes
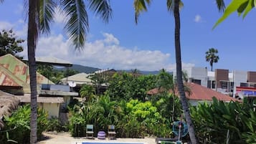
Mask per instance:
[[[48,118],[59,117],[60,104],[59,103],[39,103],[39,107],[48,112]]]

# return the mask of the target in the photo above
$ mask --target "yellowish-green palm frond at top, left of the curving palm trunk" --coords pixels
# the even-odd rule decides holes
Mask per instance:
[[[142,11],[148,11],[147,6],[151,4],[151,0],[134,0],[133,7],[135,9],[135,22],[138,24],[138,16]]]

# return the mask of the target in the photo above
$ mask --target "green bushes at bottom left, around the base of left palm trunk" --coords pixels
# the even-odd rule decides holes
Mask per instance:
[[[9,143],[13,140],[16,143],[29,143],[30,133],[30,106],[24,105],[19,107],[11,117],[4,117],[4,123],[6,124],[4,130],[0,133],[0,143]],[[46,130],[48,124],[47,113],[42,109],[38,109],[37,118],[37,136],[41,138],[42,132]],[[9,139],[9,140],[8,140]]]

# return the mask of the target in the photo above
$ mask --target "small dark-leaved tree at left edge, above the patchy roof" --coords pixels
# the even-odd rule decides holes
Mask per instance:
[[[17,55],[17,53],[23,51],[23,47],[20,45],[24,42],[23,39],[16,39],[14,32],[5,29],[0,32],[0,56],[5,54],[12,54],[18,59],[23,59]]]

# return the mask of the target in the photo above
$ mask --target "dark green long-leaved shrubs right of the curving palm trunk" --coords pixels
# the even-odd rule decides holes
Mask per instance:
[[[191,107],[199,143],[255,143],[256,113],[245,100],[222,102],[213,98],[207,103]]]

